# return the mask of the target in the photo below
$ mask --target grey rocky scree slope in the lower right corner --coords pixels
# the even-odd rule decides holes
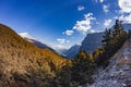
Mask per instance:
[[[109,65],[98,69],[95,83],[87,87],[131,87],[131,39],[110,59]]]

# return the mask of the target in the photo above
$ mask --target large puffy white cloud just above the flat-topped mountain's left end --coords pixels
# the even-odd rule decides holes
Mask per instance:
[[[84,14],[83,21],[78,21],[76,24],[73,26],[73,29],[86,34],[92,28],[92,21],[96,20],[93,17],[93,13]]]

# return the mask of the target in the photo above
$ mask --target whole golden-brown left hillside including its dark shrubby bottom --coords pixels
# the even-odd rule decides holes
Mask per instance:
[[[49,87],[56,71],[70,63],[0,24],[0,87]]]

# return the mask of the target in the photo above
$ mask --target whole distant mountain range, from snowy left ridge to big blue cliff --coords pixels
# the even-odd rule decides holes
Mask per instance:
[[[126,30],[129,30],[130,27],[131,27],[131,24],[123,24],[123,27],[126,28]],[[111,27],[111,29],[112,29],[112,27]],[[104,32],[87,34],[86,37],[82,40],[81,46],[80,45],[74,45],[74,46],[70,47],[69,49],[64,49],[64,48],[52,49],[50,46],[37,40],[36,38],[32,37],[27,33],[20,33],[19,35],[21,37],[23,37],[25,40],[34,44],[38,48],[41,48],[41,49],[47,48],[47,49],[53,51],[55,53],[59,53],[59,54],[61,54],[66,58],[73,59],[80,50],[85,50],[87,53],[91,53],[96,48],[100,47],[103,36],[104,36]]]

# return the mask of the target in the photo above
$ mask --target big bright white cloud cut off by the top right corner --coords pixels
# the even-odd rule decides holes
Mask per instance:
[[[121,13],[130,13],[131,12],[131,0],[118,0],[118,5],[121,9]]]

